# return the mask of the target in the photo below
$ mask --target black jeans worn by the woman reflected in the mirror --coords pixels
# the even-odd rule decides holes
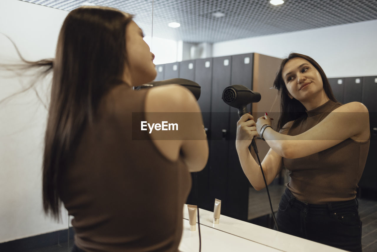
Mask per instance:
[[[280,232],[361,252],[362,222],[358,207],[356,199],[308,204],[296,199],[287,188],[280,200],[276,221]]]

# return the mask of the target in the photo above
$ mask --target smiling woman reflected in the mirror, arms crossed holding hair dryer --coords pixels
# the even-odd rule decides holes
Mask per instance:
[[[261,135],[271,147],[262,161],[267,184],[283,167],[290,171],[277,211],[279,230],[361,251],[356,188],[369,149],[367,108],[337,102],[322,68],[302,54],[282,61],[274,87],[281,95],[277,131],[268,116],[255,122],[245,114],[237,123],[236,148],[245,175],[256,190],[265,187],[248,150],[253,137]]]

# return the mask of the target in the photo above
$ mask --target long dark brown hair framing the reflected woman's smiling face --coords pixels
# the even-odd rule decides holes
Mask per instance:
[[[274,80],[274,88],[279,90],[280,93],[280,117],[279,121],[277,122],[277,131],[281,130],[283,126],[289,122],[296,120],[303,114],[305,114],[305,107],[302,105],[301,102],[299,102],[297,99],[293,98],[291,99],[288,96],[288,90],[285,86],[283,77],[282,77],[282,71],[285,66],[285,64],[293,58],[302,58],[310,62],[319,72],[320,76],[322,77],[323,82],[323,90],[325,90],[325,93],[327,97],[330,100],[333,100],[334,102],[337,102],[337,100],[334,97],[333,91],[331,90],[330,83],[326,77],[325,72],[320,67],[320,65],[311,57],[299,54],[299,53],[290,53],[289,56],[282,60],[280,63],[280,67],[277,70],[276,77]]]

